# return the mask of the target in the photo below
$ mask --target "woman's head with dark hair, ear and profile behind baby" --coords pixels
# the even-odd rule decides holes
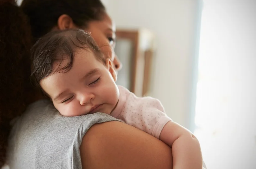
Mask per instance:
[[[122,68],[114,52],[116,27],[100,0],[23,0],[21,8],[30,18],[34,40],[55,29],[84,29],[116,69]]]

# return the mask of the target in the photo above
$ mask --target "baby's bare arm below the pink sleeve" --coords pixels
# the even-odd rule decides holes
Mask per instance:
[[[169,121],[164,126],[159,139],[172,148],[173,169],[202,169],[200,144],[189,130]]]

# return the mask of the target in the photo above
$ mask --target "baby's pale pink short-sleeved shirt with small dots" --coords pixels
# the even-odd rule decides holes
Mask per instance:
[[[137,97],[123,86],[118,88],[119,101],[110,115],[159,139],[163,127],[171,121],[161,102],[152,97]]]

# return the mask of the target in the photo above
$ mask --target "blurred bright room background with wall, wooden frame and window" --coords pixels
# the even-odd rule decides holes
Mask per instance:
[[[208,169],[256,168],[256,1],[103,0],[118,84],[195,133]]]

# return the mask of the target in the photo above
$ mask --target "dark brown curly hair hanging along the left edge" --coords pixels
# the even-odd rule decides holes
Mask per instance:
[[[10,121],[32,101],[31,31],[15,0],[0,1],[0,168],[6,162]]]

